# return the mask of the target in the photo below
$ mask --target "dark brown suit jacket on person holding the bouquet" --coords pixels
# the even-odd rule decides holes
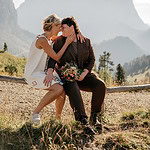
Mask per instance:
[[[61,50],[65,41],[66,37],[63,36],[59,36],[55,40],[53,49],[56,53]],[[91,72],[95,63],[95,55],[90,40],[86,38],[84,43],[80,43],[80,41],[77,41],[77,56],[74,54],[73,49],[73,45],[70,44],[59,60],[60,62],[58,63],[58,66],[61,67],[65,65],[65,62],[69,63],[71,61],[74,61],[77,63],[80,69],[88,69],[89,72]],[[55,64],[56,61],[52,58],[48,60],[48,68],[54,68]]]

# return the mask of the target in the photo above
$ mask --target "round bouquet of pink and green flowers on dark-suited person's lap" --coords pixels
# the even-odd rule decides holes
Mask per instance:
[[[78,68],[75,62],[71,63],[66,62],[65,65],[60,68],[60,72],[62,80],[73,82],[79,79],[83,71]]]

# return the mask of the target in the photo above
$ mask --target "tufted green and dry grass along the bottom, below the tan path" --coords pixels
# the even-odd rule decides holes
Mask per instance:
[[[34,127],[29,122],[17,118],[0,115],[2,150],[150,148],[150,111],[126,113],[117,121],[106,117],[103,119],[103,133],[95,136],[84,134],[80,124],[75,121],[68,120],[65,124],[49,118],[41,126]]]

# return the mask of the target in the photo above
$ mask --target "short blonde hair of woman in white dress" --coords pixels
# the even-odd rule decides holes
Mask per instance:
[[[52,25],[55,24],[56,26],[61,24],[60,18],[56,14],[52,14],[46,17],[43,21],[43,30],[44,31],[51,31]]]

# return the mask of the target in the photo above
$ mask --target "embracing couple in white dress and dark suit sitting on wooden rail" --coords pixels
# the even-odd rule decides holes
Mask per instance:
[[[25,79],[37,89],[48,90],[32,115],[33,123],[40,123],[39,112],[56,99],[56,118],[60,119],[65,103],[65,95],[69,97],[75,120],[83,125],[87,134],[95,134],[93,127],[102,131],[101,106],[104,102],[106,87],[91,70],[95,56],[90,40],[85,38],[74,19],[67,17],[60,21],[56,15],[43,20],[44,33],[33,41],[27,64]],[[53,39],[62,31],[62,35]],[[61,68],[74,62],[82,70],[75,81],[61,79]],[[92,92],[90,120],[85,112],[80,90]]]

